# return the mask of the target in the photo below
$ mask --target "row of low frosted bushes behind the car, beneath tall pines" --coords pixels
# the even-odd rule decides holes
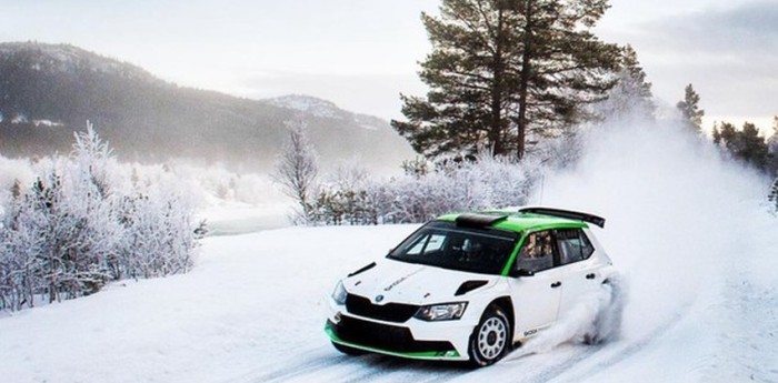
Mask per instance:
[[[476,161],[441,162],[426,173],[335,181],[320,191],[312,219],[321,224],[410,223],[448,212],[520,205],[527,202],[540,167],[530,159],[517,163],[481,153]]]

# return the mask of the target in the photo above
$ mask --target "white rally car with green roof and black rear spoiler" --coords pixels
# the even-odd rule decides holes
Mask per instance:
[[[549,208],[440,216],[339,281],[325,331],[348,354],[492,364],[608,288],[614,266],[589,224],[605,219]]]

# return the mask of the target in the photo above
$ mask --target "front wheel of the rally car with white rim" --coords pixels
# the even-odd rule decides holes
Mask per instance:
[[[470,362],[487,366],[502,359],[510,349],[510,322],[500,308],[490,306],[470,335]]]

